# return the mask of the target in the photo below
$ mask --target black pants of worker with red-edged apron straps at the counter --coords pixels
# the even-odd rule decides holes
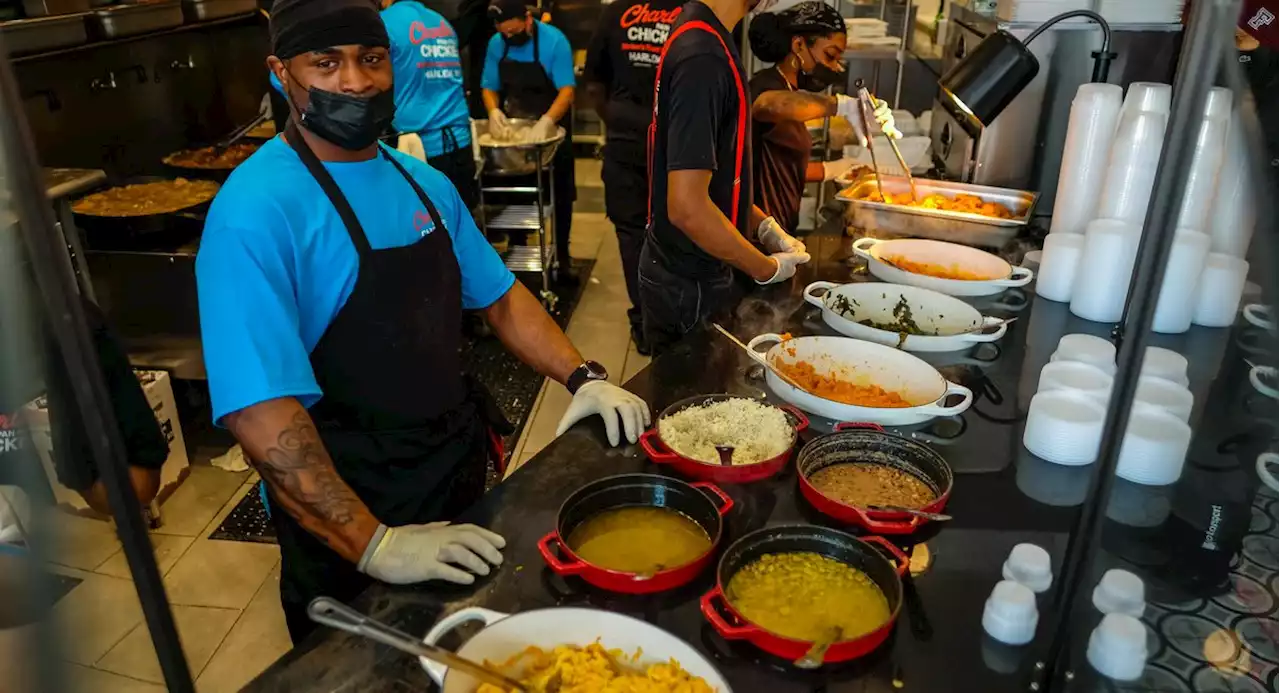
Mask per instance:
[[[733,273],[689,278],[671,272],[652,242],[640,251],[640,311],[644,337],[654,356],[708,320],[727,315],[740,297]]]

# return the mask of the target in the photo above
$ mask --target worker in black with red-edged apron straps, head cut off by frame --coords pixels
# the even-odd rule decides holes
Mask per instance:
[[[809,261],[804,243],[786,232],[756,233],[765,215],[751,205],[751,104],[730,35],[756,4],[689,3],[658,63],[650,222],[639,269],[644,333],[654,354],[732,307],[733,268],[771,284]]]

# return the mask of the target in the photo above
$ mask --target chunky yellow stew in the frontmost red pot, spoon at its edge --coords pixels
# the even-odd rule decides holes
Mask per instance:
[[[888,623],[888,599],[865,573],[818,553],[768,553],[728,580],[733,608],[760,628],[796,640],[865,635]]]

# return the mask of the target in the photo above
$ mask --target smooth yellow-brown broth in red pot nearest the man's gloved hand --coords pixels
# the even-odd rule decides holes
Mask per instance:
[[[712,548],[701,525],[664,507],[634,506],[588,518],[568,535],[584,561],[623,573],[657,573],[692,562]]]

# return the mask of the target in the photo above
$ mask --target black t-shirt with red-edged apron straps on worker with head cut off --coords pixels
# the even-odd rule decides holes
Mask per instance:
[[[733,37],[716,13],[696,0],[686,4],[672,36],[689,22],[703,22],[713,31],[691,28],[667,45],[654,120],[649,237],[668,270],[689,278],[710,278],[723,275],[728,268],[671,223],[667,173],[710,170],[712,202],[736,220],[739,232],[746,236],[751,209],[750,94]],[[735,175],[740,181],[736,195]]]

